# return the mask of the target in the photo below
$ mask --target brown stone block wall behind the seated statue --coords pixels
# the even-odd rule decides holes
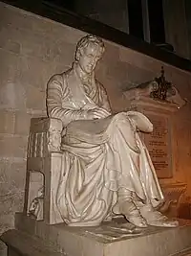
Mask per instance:
[[[23,207],[26,151],[30,119],[46,114],[46,83],[73,61],[76,41],[84,33],[0,3],[0,229],[13,226],[13,214]],[[154,58],[106,42],[97,78],[109,94],[115,112],[128,108],[123,92],[159,75],[191,100],[191,75]],[[174,120],[174,177],[187,182],[191,196],[190,104]],[[181,135],[181,136],[179,136]],[[178,139],[179,137],[179,139]],[[165,181],[165,180],[164,180]]]

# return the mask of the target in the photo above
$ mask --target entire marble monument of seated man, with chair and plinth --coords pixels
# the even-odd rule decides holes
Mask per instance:
[[[86,35],[72,68],[48,82],[49,117],[31,121],[24,211],[1,237],[11,256],[190,253],[191,222],[159,212],[164,197],[142,139],[152,123],[135,109],[113,114],[96,80],[103,52]]]

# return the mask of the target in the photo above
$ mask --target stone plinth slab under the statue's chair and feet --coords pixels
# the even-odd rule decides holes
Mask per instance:
[[[48,248],[54,254],[47,255],[59,256],[167,256],[191,247],[191,221],[184,220],[176,228],[133,229],[124,219],[97,227],[70,227],[64,223],[48,225],[17,214],[15,226],[17,230],[8,231],[2,240],[30,256],[32,249],[31,254],[26,251],[30,251],[29,244],[42,252],[35,254],[40,256],[46,255]]]

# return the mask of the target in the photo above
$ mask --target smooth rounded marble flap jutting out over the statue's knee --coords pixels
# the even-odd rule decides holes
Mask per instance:
[[[128,111],[127,115],[134,120],[139,130],[144,132],[152,132],[153,124],[151,121],[142,113],[137,111]]]

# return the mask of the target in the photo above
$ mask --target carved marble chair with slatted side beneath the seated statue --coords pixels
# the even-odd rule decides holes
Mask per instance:
[[[56,208],[56,186],[62,167],[62,122],[55,118],[32,118],[27,154],[24,214],[32,214],[32,203],[41,203],[37,221],[62,222]],[[38,205],[39,206],[39,205]],[[36,208],[36,207],[34,207]]]

